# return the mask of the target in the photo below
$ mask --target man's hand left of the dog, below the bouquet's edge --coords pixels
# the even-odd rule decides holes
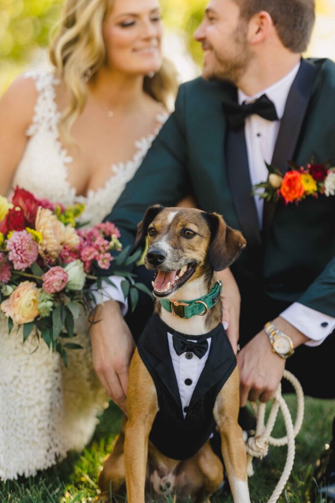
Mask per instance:
[[[99,321],[98,321],[99,320]],[[107,394],[126,413],[128,372],[135,342],[115,300],[95,308],[91,327],[93,366]]]

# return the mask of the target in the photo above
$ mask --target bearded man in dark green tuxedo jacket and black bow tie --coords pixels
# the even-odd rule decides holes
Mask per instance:
[[[202,78],[180,87],[175,112],[108,217],[126,246],[148,206],[191,193],[242,230],[247,248],[232,268],[242,300],[242,405],[270,399],[285,362],[306,393],[335,396],[335,196],[264,207],[251,195],[267,179],[265,161],[283,174],[288,159],[335,163],[335,65],[301,59],[313,23],[314,0],[210,0],[195,33]],[[97,310],[96,367],[124,405],[134,343],[116,301]],[[271,320],[296,349],[287,360],[263,329]]]

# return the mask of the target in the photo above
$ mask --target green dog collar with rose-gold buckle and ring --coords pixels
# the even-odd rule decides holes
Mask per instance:
[[[169,313],[179,316],[179,318],[188,319],[195,315],[203,316],[206,314],[208,309],[213,307],[219,300],[221,291],[222,282],[216,281],[210,292],[199,299],[188,302],[175,299],[159,299],[159,301],[161,306]]]

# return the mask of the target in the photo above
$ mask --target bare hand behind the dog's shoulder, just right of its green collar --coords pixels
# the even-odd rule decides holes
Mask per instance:
[[[222,281],[222,323],[233,350],[237,354],[240,329],[240,290],[230,269],[219,271],[217,279]]]

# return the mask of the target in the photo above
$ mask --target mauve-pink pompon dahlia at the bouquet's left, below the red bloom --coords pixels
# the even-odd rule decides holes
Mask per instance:
[[[11,239],[7,241],[7,248],[10,252],[8,258],[17,271],[24,271],[38,257],[38,244],[26,230],[13,232]]]

